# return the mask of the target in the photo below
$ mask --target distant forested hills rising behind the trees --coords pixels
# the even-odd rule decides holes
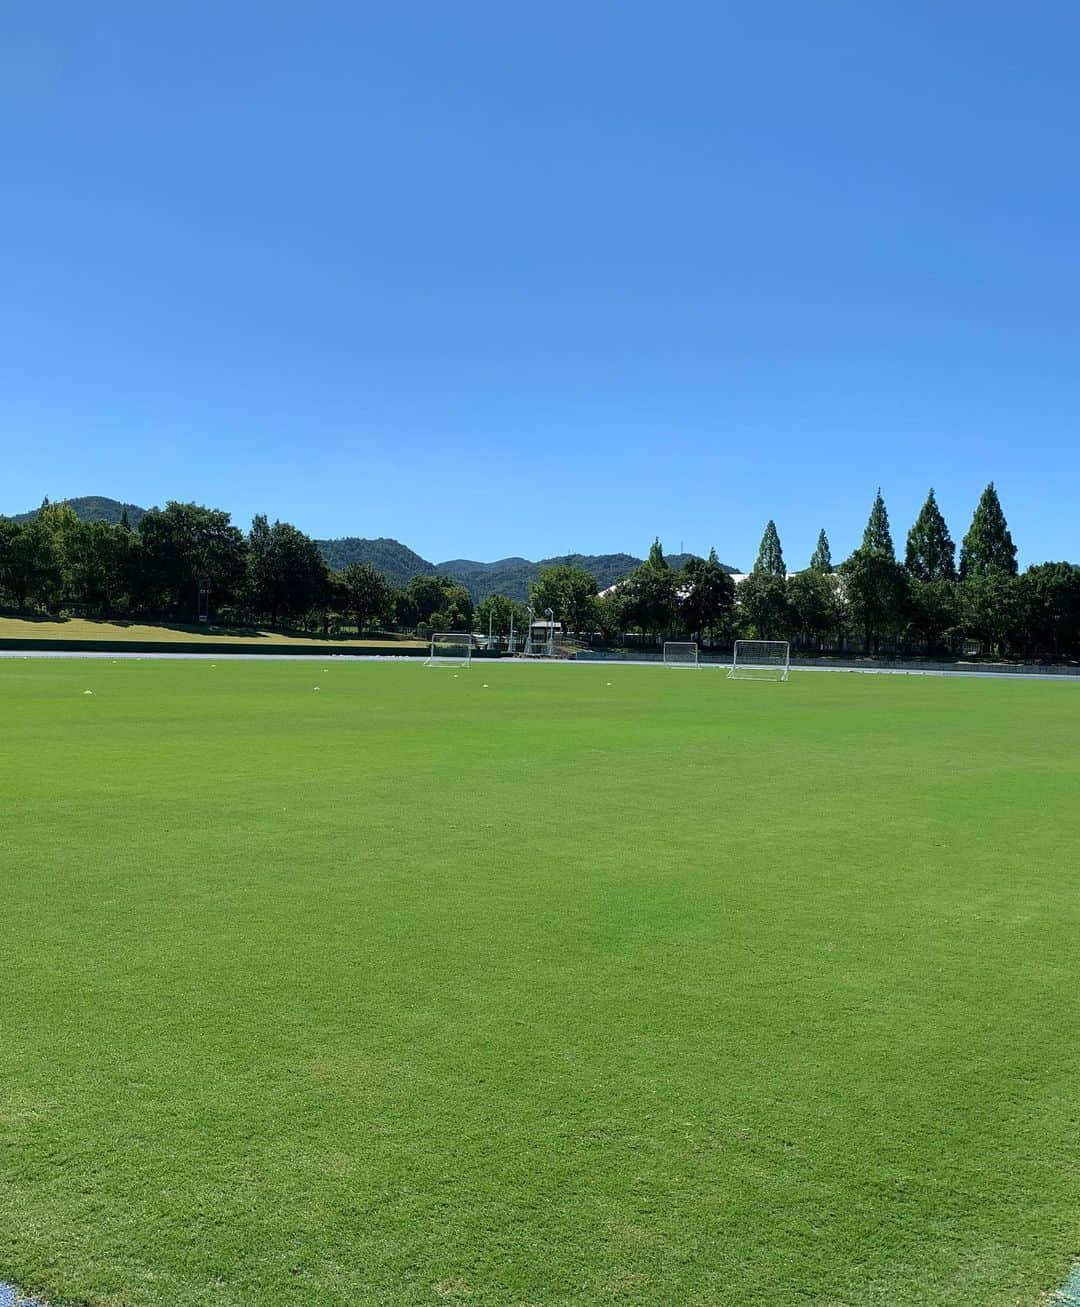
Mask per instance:
[[[82,521],[115,524],[127,511],[128,523],[137,527],[146,512],[136,503],[120,503],[119,499],[107,499],[103,495],[84,495],[63,502],[69,505]],[[37,508],[30,512],[20,512],[14,516],[14,521],[33,521],[37,515]],[[471,558],[451,558],[443,563],[430,563],[408,545],[386,536],[377,540],[343,536],[336,540],[316,540],[315,545],[327,563],[337,571],[348,563],[370,563],[391,584],[399,587],[404,586],[411,576],[442,572],[460,580],[476,601],[488,595],[506,595],[519,603],[526,603],[530,588],[541,569],[552,567],[556,563],[583,567],[596,578],[600,589],[607,589],[608,586],[613,586],[642,562],[633,554],[561,554],[557,558],[541,558],[540,562],[531,562],[528,558],[499,558],[493,563],[481,563]],[[690,554],[669,554],[668,562],[672,567],[681,567],[690,557]],[[735,571],[736,569],[726,567],[726,570]]]

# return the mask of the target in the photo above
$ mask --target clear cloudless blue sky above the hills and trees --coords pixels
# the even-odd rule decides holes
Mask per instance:
[[[7,0],[0,511],[1080,559],[1080,7]]]

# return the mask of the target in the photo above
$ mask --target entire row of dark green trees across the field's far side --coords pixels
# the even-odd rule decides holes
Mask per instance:
[[[201,599],[200,599],[201,595]],[[779,533],[765,527],[751,574],[737,586],[715,550],[671,567],[660,541],[604,593],[581,567],[544,569],[531,591],[566,633],[596,640],[688,637],[790,639],[804,651],[845,648],[1028,657],[1080,656],[1080,567],[1046,562],[1019,572],[1016,546],[994,485],[956,545],[934,490],[897,557],[879,490],[862,544],[833,565],[822,529],[808,566],[790,572]],[[290,523],[258,515],[242,532],[228,512],[170,502],[132,529],[82,521],[46,502],[31,521],[0,518],[0,603],[20,612],[360,634],[388,630],[522,631],[527,609],[503,595],[473,604],[451,576],[392,586],[367,563],[336,571]]]

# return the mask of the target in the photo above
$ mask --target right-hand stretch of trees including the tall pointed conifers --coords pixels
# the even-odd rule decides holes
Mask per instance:
[[[958,559],[932,489],[900,559],[879,489],[859,548],[838,566],[822,528],[808,565],[788,572],[769,521],[739,584],[715,550],[676,570],[656,540],[649,558],[605,593],[587,572],[560,566],[541,572],[532,603],[571,631],[607,638],[633,631],[641,640],[689,637],[719,646],[740,637],[787,639],[804,652],[854,646],[866,654],[1080,656],[1080,566],[1037,563],[1021,575],[992,482]]]

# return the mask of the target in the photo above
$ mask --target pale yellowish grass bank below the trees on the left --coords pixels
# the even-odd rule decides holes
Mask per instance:
[[[421,642],[414,639],[394,639],[386,635],[363,635],[326,638],[305,633],[286,634],[265,631],[256,627],[233,626],[183,626],[152,625],[146,622],[106,622],[84,617],[0,617],[0,644],[4,640],[39,640],[42,644],[55,640],[78,643],[131,643],[131,644],[319,644],[326,648],[346,651],[349,646],[369,648],[384,644],[417,648]]]

